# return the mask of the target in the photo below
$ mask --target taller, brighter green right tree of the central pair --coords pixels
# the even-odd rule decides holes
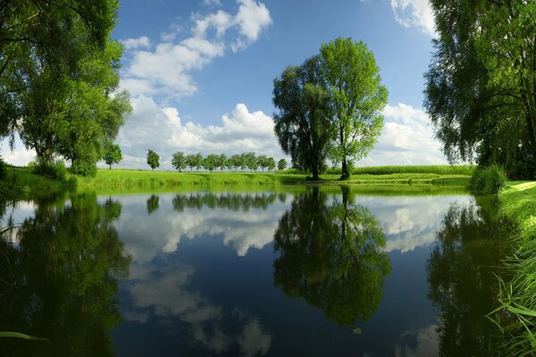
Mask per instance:
[[[348,179],[349,165],[364,158],[381,135],[388,92],[363,41],[336,38],[321,46],[320,56],[334,127],[331,157],[342,162],[340,179]]]

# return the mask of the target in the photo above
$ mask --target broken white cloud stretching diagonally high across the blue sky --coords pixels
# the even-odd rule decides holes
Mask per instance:
[[[191,16],[190,36],[176,42],[180,27],[172,25],[161,34],[162,43],[154,48],[148,37],[122,41],[130,64],[122,74],[121,86],[132,95],[163,95],[178,99],[194,95],[197,84],[191,71],[201,70],[215,58],[255,42],[271,23],[268,8],[255,0],[238,0],[239,10],[230,14],[219,10]],[[205,4],[219,2],[208,1]],[[143,49],[142,49],[143,48]]]

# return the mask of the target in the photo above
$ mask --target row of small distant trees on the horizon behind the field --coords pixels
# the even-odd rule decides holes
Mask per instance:
[[[153,150],[147,151],[147,165],[152,170],[155,170],[160,166],[160,155],[156,154]],[[175,170],[274,170],[275,160],[272,157],[266,155],[256,155],[254,152],[247,152],[242,154],[233,154],[229,158],[226,154],[208,154],[205,157],[201,153],[197,154],[184,154],[184,152],[177,152],[172,154],[172,166]],[[285,170],[287,168],[287,161],[281,159],[277,163],[278,170]]]

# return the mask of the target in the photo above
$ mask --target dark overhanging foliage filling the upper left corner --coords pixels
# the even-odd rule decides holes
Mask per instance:
[[[80,60],[88,53],[103,50],[115,24],[118,7],[117,0],[3,2],[0,12],[0,136],[3,137],[6,130],[17,129],[21,114],[29,109],[24,96],[43,84],[44,71],[41,70],[52,70],[47,80],[57,86],[46,89],[51,95],[60,94],[63,93],[63,78],[80,71]],[[49,104],[55,106],[57,102]],[[52,158],[48,159],[41,163],[52,163]]]

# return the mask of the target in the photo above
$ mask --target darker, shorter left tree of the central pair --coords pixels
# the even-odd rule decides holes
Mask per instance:
[[[329,96],[322,86],[320,57],[290,66],[273,80],[275,134],[285,154],[318,179],[331,138]]]

